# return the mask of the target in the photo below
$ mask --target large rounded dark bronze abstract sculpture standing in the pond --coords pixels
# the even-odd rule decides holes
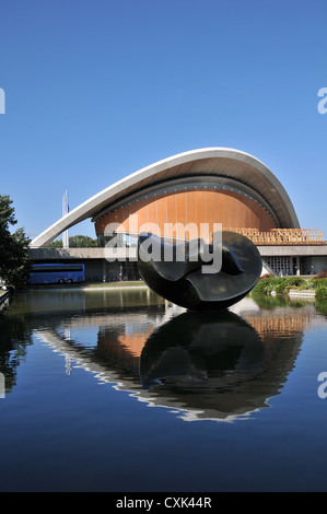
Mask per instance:
[[[211,269],[208,256],[212,256]],[[138,268],[149,288],[165,300],[188,309],[218,311],[250,292],[262,260],[252,241],[231,231],[213,234],[209,245],[202,240],[170,245],[143,233],[138,242]]]

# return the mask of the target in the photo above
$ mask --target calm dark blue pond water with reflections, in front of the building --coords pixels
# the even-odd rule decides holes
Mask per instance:
[[[326,303],[34,291],[0,329],[1,491],[327,491]]]

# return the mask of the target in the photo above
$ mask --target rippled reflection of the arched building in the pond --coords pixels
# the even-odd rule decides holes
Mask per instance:
[[[311,304],[272,308],[247,297],[226,312],[189,313],[144,299],[143,308],[66,313],[34,332],[65,354],[70,373],[83,366],[187,421],[232,421],[269,407],[294,366],[303,330],[326,325]],[[83,329],[91,326],[97,336],[87,346]]]

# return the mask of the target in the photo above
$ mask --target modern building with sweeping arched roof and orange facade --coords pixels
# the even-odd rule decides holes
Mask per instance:
[[[276,175],[240,150],[194,150],[127,176],[35,237],[31,258],[56,258],[52,250],[36,248],[46,248],[63,231],[87,218],[94,222],[100,247],[113,243],[113,238],[120,247],[124,264],[102,262],[105,280],[113,272],[135,278],[140,232],[152,232],[167,241],[201,236],[210,242],[218,226],[248,236],[276,273],[310,274],[327,268],[322,232],[301,229],[292,201]],[[66,250],[66,258],[92,259],[93,252],[97,255],[94,258],[103,259],[101,248],[89,250],[87,258],[85,252],[81,257],[77,250]],[[59,254],[57,258],[65,258]],[[98,262],[95,267],[98,269]]]

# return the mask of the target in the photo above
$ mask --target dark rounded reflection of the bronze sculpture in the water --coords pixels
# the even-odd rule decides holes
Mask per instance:
[[[145,388],[173,384],[184,390],[222,390],[250,378],[265,349],[256,330],[236,314],[184,313],[152,334],[141,353]]]

